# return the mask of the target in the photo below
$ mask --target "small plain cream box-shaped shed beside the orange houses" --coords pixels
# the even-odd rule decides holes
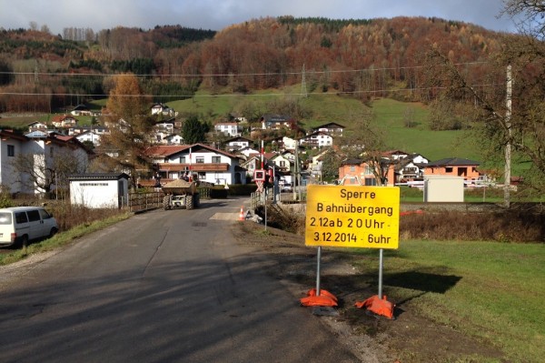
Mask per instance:
[[[424,202],[463,202],[463,177],[424,176]]]

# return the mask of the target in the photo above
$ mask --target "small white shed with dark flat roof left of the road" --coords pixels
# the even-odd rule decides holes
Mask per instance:
[[[129,194],[125,173],[74,174],[70,181],[70,202],[90,208],[122,207]]]

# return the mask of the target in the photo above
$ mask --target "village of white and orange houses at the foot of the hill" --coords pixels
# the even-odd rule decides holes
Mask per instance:
[[[261,129],[252,129],[250,136],[246,137],[243,136],[243,129],[248,129],[247,120],[241,116],[233,116],[232,121],[213,126],[216,135],[223,136],[222,145],[186,145],[181,136],[183,121],[177,117],[176,111],[163,104],[154,104],[150,113],[162,118],[156,122],[154,133],[150,135],[149,141],[153,146],[145,152],[145,156],[154,165],[155,173],[139,178],[138,187],[156,187],[183,177],[190,169],[200,181],[223,186],[252,183],[254,172],[262,168],[271,170],[284,190],[290,190],[294,184],[303,186],[309,183],[332,182],[322,176],[323,160],[328,153],[338,152],[339,146],[335,144],[335,139],[342,136],[345,128],[341,124],[330,122],[313,127],[299,138],[277,137],[268,141],[268,151],[265,151],[259,145],[260,140],[253,139],[254,132],[290,129],[296,124],[292,117],[263,115],[260,118]],[[43,192],[39,188],[36,190],[35,187],[21,183],[24,176],[18,175],[20,173],[10,163],[10,159],[19,153],[43,155],[42,163],[46,164],[48,157],[68,151],[77,156],[74,160],[81,163],[81,170],[86,170],[94,158],[93,151],[87,146],[100,146],[101,137],[108,133],[108,125],[80,126],[78,116],[102,115],[80,105],[65,115],[54,116],[49,125],[39,121],[31,123],[24,135],[1,130],[2,185],[9,186],[12,194]],[[429,160],[420,154],[391,150],[383,152],[381,163],[384,163],[386,171],[383,181],[388,186],[421,187],[423,177],[429,175],[461,176],[466,187],[480,187],[490,182],[479,170],[479,162],[455,156]],[[297,180],[295,176],[298,177]],[[373,173],[372,167],[364,158],[343,160],[338,179],[344,184],[380,184],[377,182],[376,173]]]

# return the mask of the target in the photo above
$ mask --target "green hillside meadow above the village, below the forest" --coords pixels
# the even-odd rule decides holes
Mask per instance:
[[[463,157],[481,160],[481,153],[470,135],[464,131],[431,131],[428,122],[428,109],[420,103],[406,103],[389,98],[377,99],[371,107],[350,97],[332,93],[311,94],[308,97],[292,96],[296,89],[263,91],[250,96],[218,95],[212,96],[199,91],[194,98],[173,101],[168,106],[181,112],[196,112],[213,117],[226,116],[243,102],[265,105],[279,97],[299,100],[312,111],[312,116],[300,120],[303,128],[309,129],[328,122],[336,122],[348,129],[357,129],[358,117],[372,113],[374,122],[384,130],[386,145],[408,153],[419,153],[431,161],[444,157]],[[410,117],[416,126],[404,126]]]

